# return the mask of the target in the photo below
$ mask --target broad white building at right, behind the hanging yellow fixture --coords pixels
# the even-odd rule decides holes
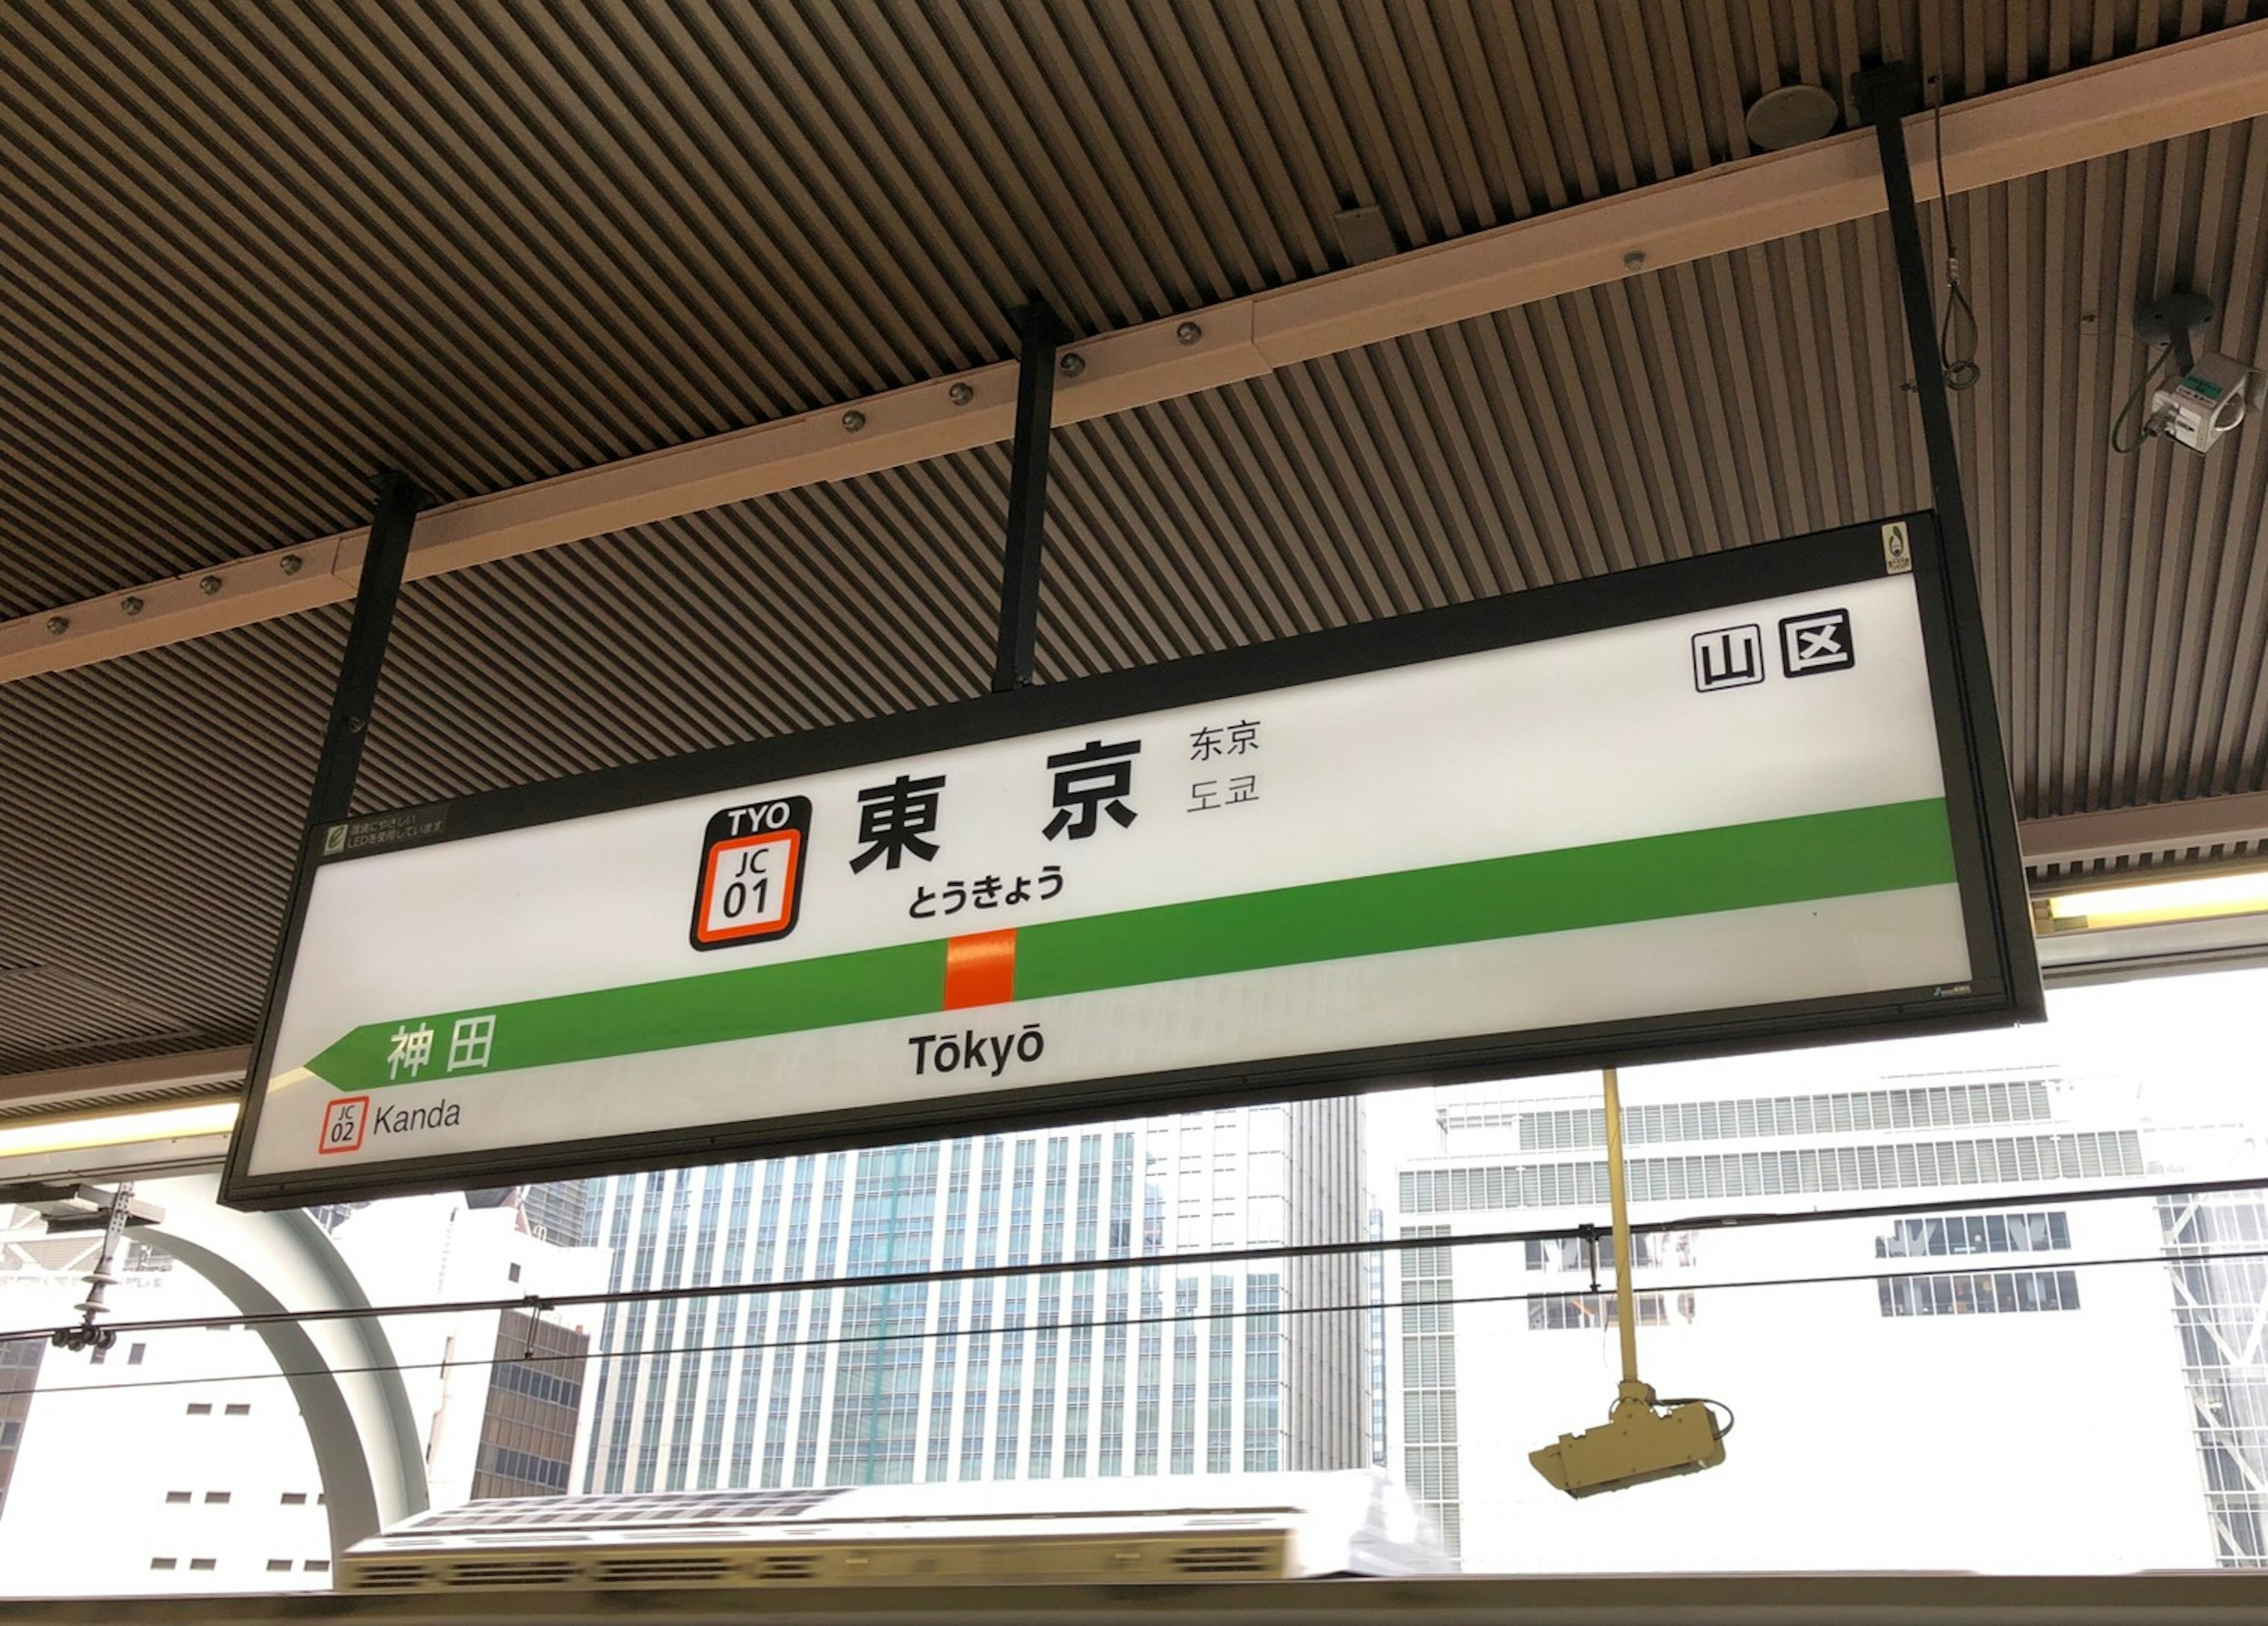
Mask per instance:
[[[2159,1261],[2259,1238],[2259,1202],[2182,1200],[2161,1220],[2148,1197],[2077,1197],[2148,1179],[2132,1091],[2053,1073],[1844,1089],[1803,1066],[1728,1066],[1746,1089],[1706,1095],[1626,1086],[1633,1222],[1696,1220],[1635,1236],[1640,1374],[1737,1424],[1721,1467],[1585,1501],[1526,1456],[1601,1424],[1622,1377],[1603,1111],[1565,1079],[1442,1093],[1433,1152],[1397,1168],[1397,1238],[1599,1225],[1388,1261],[1393,1463],[1465,1567],[2116,1572],[2257,1553],[2263,1284],[2252,1261],[2175,1261],[2177,1327]],[[1699,1222],[1814,1206],[1892,1211]],[[2102,1259],[2143,1263],[2084,1268]]]

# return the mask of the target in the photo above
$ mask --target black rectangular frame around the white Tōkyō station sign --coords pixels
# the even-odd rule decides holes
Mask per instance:
[[[1894,547],[1896,533],[1903,533],[1903,547]],[[306,925],[315,873],[324,864],[687,796],[785,787],[801,776],[832,769],[1826,590],[1901,574],[1898,565],[1914,576],[1921,612],[1955,882],[1969,932],[1971,980],[1964,984],[1374,1050],[1336,1050],[1268,1064],[1139,1073],[889,1107],[748,1118],[728,1125],[587,1141],[547,1141],[533,1147],[386,1163],[358,1161],[347,1168],[306,1168],[279,1175],[249,1172],[265,1079],[274,1066],[277,1030],[290,993],[290,968]],[[1778,628],[1765,640],[1767,658],[1778,655],[1776,635]],[[2043,1021],[2046,996],[2032,943],[2023,857],[2000,767],[1989,674],[1975,658],[1980,651],[1982,621],[1975,583],[1966,569],[1948,567],[1935,515],[1914,513],[1272,644],[1193,655],[1075,683],[984,694],[923,712],[878,717],[324,825],[308,832],[302,855],[220,1200],[236,1209],[286,1209],[311,1202],[576,1179],[914,1138],[998,1134],[1157,1111],[1243,1107],[1413,1084],[1458,1084],[1603,1064],[1628,1066]]]

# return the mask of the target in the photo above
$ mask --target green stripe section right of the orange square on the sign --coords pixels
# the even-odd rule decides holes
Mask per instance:
[[[1016,934],[1016,998],[1948,880],[1944,801],[1855,807],[1027,925]]]

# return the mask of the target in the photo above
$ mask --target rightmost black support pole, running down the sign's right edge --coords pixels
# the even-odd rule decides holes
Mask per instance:
[[[1937,306],[1930,261],[1921,247],[1921,213],[1914,206],[1914,170],[1905,154],[1905,118],[1921,111],[1921,84],[1910,63],[1862,68],[1851,77],[1857,113],[1873,125],[1882,159],[1882,190],[1889,197],[1889,245],[1898,261],[1898,295],[1905,302],[1905,342],[1914,358],[1914,390],[1921,401],[1921,449],[1930,465],[1930,506],[1953,601],[1953,669],[1975,719],[1973,762],[1978,796],[2000,816],[1987,819],[1982,848],[1991,869],[2003,952],[2016,980],[2016,998],[2028,1016],[2046,1016],[2039,984],[2039,948],[2032,941],[2032,896],[2016,846],[2016,810],[2009,796],[2007,744],[1994,696],[1991,651],[1984,644],[1984,610],[1978,601],[1975,549],[1969,542],[1969,499],[1962,490],[1960,447],[1953,440],[1953,397],[1937,352]]]

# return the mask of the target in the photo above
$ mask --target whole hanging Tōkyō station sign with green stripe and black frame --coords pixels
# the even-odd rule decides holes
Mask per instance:
[[[2014,1021],[1928,515],[311,835],[284,1206]]]

